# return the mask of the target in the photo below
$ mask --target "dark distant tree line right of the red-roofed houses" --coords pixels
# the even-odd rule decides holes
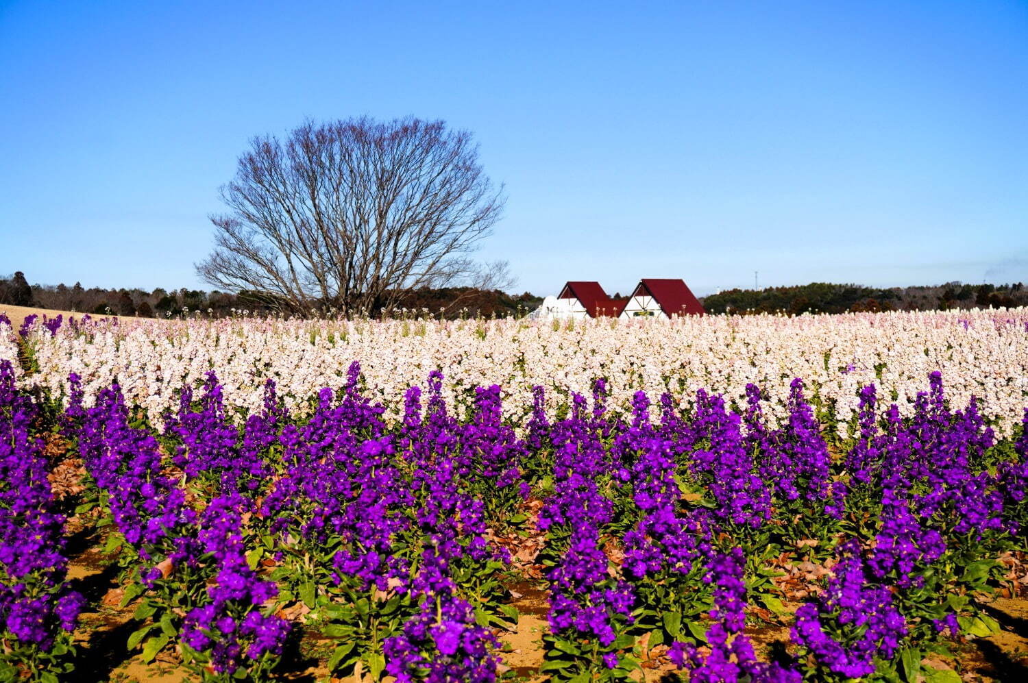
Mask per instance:
[[[811,282],[764,290],[728,290],[701,299],[708,313],[845,313],[1028,306],[1028,290],[1014,284],[947,282],[877,289]]]

